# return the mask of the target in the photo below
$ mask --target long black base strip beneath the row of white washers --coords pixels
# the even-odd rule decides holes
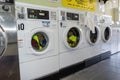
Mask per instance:
[[[42,77],[40,79],[36,79],[36,80],[60,80],[61,78],[64,78],[66,76],[69,76],[71,74],[74,74],[75,72],[78,72],[82,69],[85,69],[89,66],[92,66],[100,61],[103,61],[105,59],[110,58],[111,56],[111,51],[107,51],[105,53],[102,53],[100,55],[94,56],[92,58],[86,59],[80,63],[71,65],[69,67],[60,69],[59,72],[56,72],[54,74]]]

